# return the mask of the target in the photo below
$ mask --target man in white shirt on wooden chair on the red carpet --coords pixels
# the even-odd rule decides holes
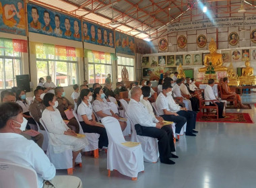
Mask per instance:
[[[214,95],[214,90],[212,89],[212,87],[214,87],[214,79],[209,79],[208,80],[208,85],[204,89],[205,105],[212,105],[212,106],[214,106],[214,103],[216,103],[216,105],[218,105],[218,113],[219,113],[218,115],[219,115],[219,118],[224,118],[223,115],[222,115],[223,109],[224,109],[224,103],[218,101],[218,99]],[[211,100],[214,103],[210,102]]]

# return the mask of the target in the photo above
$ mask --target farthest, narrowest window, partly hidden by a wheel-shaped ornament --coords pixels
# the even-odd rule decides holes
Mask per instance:
[[[133,58],[125,58],[125,57],[121,57],[118,56],[117,57],[117,68],[118,68],[118,81],[122,81],[122,70],[123,67],[125,66],[125,68],[128,71],[129,74],[129,81],[134,81],[134,59]]]

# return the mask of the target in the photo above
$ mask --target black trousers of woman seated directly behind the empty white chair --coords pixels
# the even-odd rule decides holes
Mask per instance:
[[[99,126],[90,126],[85,122],[80,122],[80,124],[84,132],[100,134],[100,138],[98,138],[98,148],[101,149],[103,146],[108,146],[108,136],[106,135],[105,128]]]

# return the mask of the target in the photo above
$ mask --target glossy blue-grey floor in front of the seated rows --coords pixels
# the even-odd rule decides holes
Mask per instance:
[[[243,95],[245,103],[256,103],[256,95]],[[250,113],[252,109],[228,109],[228,112]],[[256,124],[222,124],[197,122],[196,138],[181,136],[177,142],[174,165],[144,162],[145,173],[137,181],[113,172],[107,176],[106,153],[97,159],[83,156],[83,167],[73,175],[83,181],[83,187],[189,187],[241,188],[256,187]],[[66,175],[66,171],[57,171]]]

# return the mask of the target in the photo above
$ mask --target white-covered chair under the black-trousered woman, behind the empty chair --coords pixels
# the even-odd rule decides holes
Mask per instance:
[[[73,115],[75,116],[75,120],[77,120],[77,123],[79,125],[79,134],[84,134],[87,140],[89,141],[89,145],[82,149],[82,151],[94,151],[94,158],[98,158],[98,138],[100,138],[100,134],[84,132],[78,120],[77,113],[75,112],[75,110],[73,110]]]

